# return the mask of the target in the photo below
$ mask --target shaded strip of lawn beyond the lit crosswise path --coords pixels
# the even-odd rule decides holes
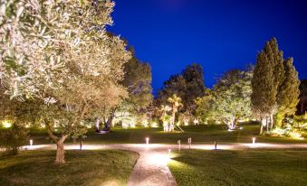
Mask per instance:
[[[259,134],[258,125],[244,125],[243,130],[228,132],[225,126],[183,126],[185,133],[164,133],[162,128],[112,128],[110,133],[97,135],[89,132],[84,139],[85,144],[143,144],[145,138],[150,138],[152,144],[177,144],[177,140],[187,143],[187,138],[192,137],[193,144],[218,143],[251,143],[252,137]],[[34,144],[48,144],[48,135],[45,132],[33,133]],[[260,143],[298,144],[307,143],[307,140],[295,140],[289,137],[257,136]],[[66,143],[72,143],[67,140]]]

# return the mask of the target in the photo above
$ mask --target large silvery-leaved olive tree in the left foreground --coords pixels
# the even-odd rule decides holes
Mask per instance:
[[[113,6],[96,0],[1,2],[0,79],[11,98],[43,99],[56,163],[64,163],[65,139],[86,131],[86,118],[127,97],[120,80],[130,52],[105,32]],[[54,126],[61,135],[53,135]]]

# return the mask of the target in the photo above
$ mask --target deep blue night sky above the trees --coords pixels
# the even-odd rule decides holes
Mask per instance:
[[[254,63],[264,42],[276,37],[307,79],[307,1],[116,0],[113,33],[126,38],[151,64],[156,92],[171,74],[197,62],[206,87],[226,70]]]

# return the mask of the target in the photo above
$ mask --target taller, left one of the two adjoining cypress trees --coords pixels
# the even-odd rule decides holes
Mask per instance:
[[[279,51],[275,38],[265,43],[264,50],[257,56],[252,79],[252,110],[260,118],[270,117],[277,110],[277,93],[284,79],[283,51]],[[262,128],[261,132],[262,133]]]

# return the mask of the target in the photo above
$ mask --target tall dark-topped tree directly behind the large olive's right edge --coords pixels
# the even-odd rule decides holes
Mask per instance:
[[[151,68],[149,63],[139,61],[136,58],[132,48],[130,48],[132,58],[124,65],[124,77],[120,84],[127,88],[128,97],[123,99],[122,103],[114,108],[108,119],[108,125],[104,129],[109,130],[110,124],[114,116],[122,117],[119,114],[126,113],[127,116],[136,118],[137,121],[147,117],[149,105],[152,103],[152,87],[151,87]],[[120,118],[118,118],[120,120]],[[143,121],[139,121],[142,123]],[[106,124],[105,123],[105,124]]]

